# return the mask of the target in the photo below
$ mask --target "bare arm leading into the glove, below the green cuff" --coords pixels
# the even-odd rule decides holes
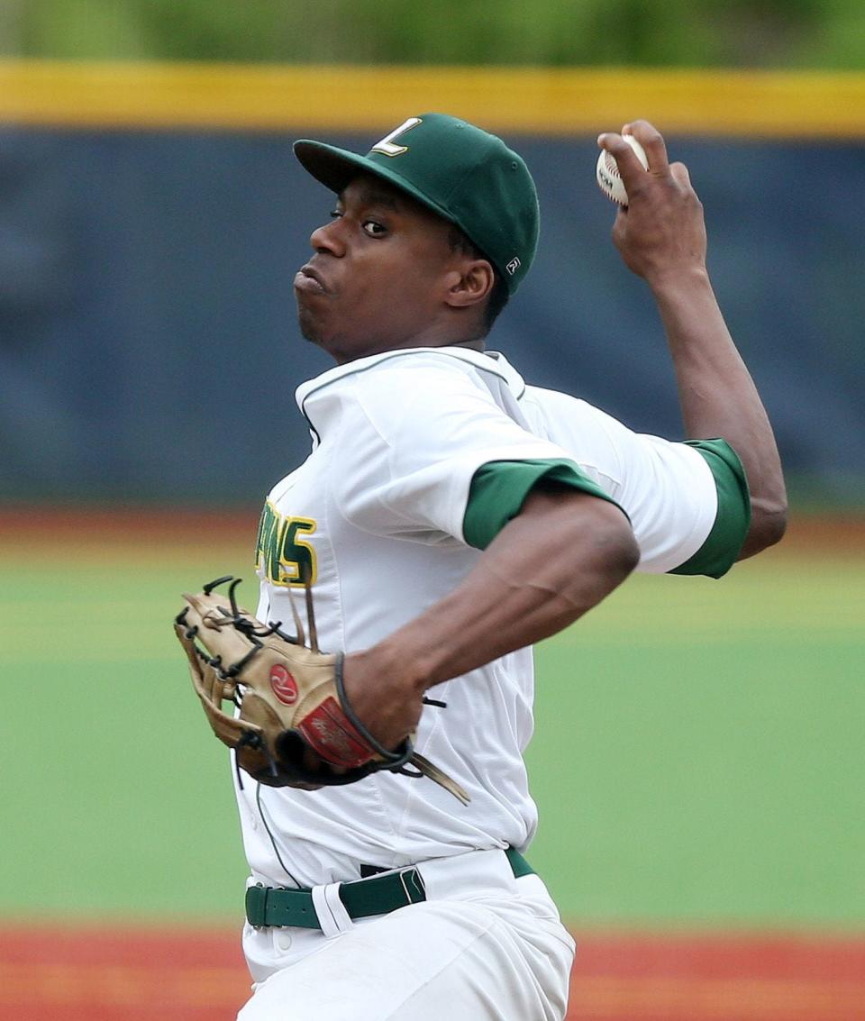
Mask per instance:
[[[465,580],[420,617],[346,658],[346,690],[381,738],[404,731],[406,696],[555,634],[633,570],[625,516],[585,494],[536,492]],[[418,706],[420,712],[420,706]]]

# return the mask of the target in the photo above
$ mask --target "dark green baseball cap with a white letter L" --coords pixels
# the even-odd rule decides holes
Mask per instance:
[[[294,154],[339,194],[372,174],[455,224],[508,285],[520,286],[537,250],[537,191],[522,156],[495,135],[445,113],[422,113],[377,142],[366,156],[300,139]]]

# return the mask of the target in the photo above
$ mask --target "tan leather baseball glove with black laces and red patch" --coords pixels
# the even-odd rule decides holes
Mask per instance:
[[[231,582],[228,596],[214,594],[226,582]],[[430,777],[468,804],[466,791],[415,751],[411,737],[385,748],[357,719],[345,696],[342,653],[319,651],[308,582],[311,647],[293,604],[295,638],[281,630],[281,622],[265,625],[239,609],[239,578],[227,576],[197,595],[184,594],[186,606],[175,618],[192,684],[213,733],[235,749],[238,770],[271,787],[316,790],[386,769]],[[223,701],[234,702],[236,712],[225,713]]]

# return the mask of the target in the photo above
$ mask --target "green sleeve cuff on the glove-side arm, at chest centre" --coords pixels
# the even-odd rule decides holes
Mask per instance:
[[[567,458],[491,460],[482,465],[472,477],[469,502],[463,518],[466,542],[476,549],[486,549],[508,522],[522,510],[529,492],[538,483],[550,482],[616,503],[609,493]]]

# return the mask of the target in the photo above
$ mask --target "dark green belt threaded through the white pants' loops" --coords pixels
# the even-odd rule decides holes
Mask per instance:
[[[523,856],[509,847],[504,852],[514,878],[534,874],[534,869]],[[389,872],[384,876],[343,883],[339,898],[352,919],[386,915],[410,904],[426,901],[424,882],[417,868]],[[250,886],[246,890],[246,918],[250,925],[295,926],[301,929],[320,929],[319,917],[313,906],[309,889],[288,890],[274,886]]]

